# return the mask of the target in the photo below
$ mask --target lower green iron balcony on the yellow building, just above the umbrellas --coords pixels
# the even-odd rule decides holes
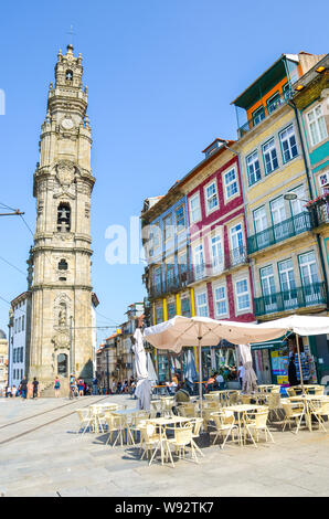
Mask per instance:
[[[325,283],[315,283],[255,298],[255,316],[327,305]]]

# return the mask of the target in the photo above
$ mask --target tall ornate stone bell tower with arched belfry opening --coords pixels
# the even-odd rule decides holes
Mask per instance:
[[[82,56],[59,52],[55,84],[34,173],[36,230],[33,246],[29,378],[49,385],[55,375],[93,375],[91,126]]]

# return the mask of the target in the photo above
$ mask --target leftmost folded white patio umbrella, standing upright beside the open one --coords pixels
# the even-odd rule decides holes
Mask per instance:
[[[137,407],[146,411],[150,410],[152,382],[149,379],[147,370],[147,357],[144,348],[142,335],[139,328],[134,333],[135,345],[132,351],[135,353],[135,368],[137,374],[137,384],[135,395],[137,396]]]

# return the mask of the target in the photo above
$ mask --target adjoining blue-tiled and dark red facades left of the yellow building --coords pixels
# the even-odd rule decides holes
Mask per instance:
[[[240,165],[232,144],[215,139],[203,151],[204,160],[142,212],[153,324],[174,315],[254,320]],[[203,349],[204,378],[229,360],[236,363],[232,350],[216,346]],[[176,361],[182,370],[181,358]],[[157,356],[160,380],[170,379],[171,364],[169,353]]]

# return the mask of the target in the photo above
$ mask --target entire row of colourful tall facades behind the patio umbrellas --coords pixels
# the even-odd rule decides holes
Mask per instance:
[[[152,324],[176,314],[238,321],[328,315],[327,62],[325,54],[283,54],[233,102],[237,140],[215,139],[203,161],[145,204]],[[259,382],[287,382],[284,339],[254,347]],[[327,337],[301,347],[310,381],[320,381],[319,356],[329,374]],[[160,379],[168,379],[170,356],[160,357]],[[204,349],[204,377],[222,359]]]

